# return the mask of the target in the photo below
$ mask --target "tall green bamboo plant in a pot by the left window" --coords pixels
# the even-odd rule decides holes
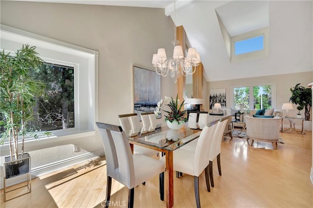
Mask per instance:
[[[36,99],[45,89],[43,82],[32,79],[32,70],[38,70],[43,62],[35,48],[23,45],[15,55],[0,52],[0,143],[8,141],[10,149],[10,156],[5,157],[6,178],[29,171],[22,167],[30,166],[29,154],[24,153],[24,139],[31,132],[29,124],[34,119]]]

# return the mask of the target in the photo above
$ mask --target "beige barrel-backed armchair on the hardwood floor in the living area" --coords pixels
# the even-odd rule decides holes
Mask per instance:
[[[279,139],[279,129],[281,118],[254,118],[246,116],[246,135],[247,140],[250,139],[250,146],[254,140],[262,142],[271,142],[274,149],[277,149],[277,141]]]

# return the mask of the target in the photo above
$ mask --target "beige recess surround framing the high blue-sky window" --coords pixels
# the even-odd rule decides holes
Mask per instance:
[[[235,55],[235,42],[244,41],[246,39],[256,38],[259,36],[264,37],[264,49]],[[263,27],[257,30],[233,36],[230,38],[230,42],[230,62],[244,62],[249,60],[268,58],[268,27]]]

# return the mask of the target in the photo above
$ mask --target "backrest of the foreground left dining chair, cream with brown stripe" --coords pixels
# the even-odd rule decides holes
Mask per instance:
[[[121,126],[96,122],[101,134],[107,161],[107,175],[134,187],[134,161],[127,136]]]

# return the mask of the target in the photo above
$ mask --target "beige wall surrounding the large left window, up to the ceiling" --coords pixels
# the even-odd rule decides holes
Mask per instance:
[[[99,52],[99,122],[119,125],[118,114],[133,112],[133,64],[153,70],[157,48],[173,50],[174,25],[163,9],[2,0],[0,9],[1,24]],[[161,90],[162,97],[177,93],[170,77],[161,78]],[[98,132],[25,145],[38,174],[103,154]],[[81,152],[73,152],[73,145]],[[0,153],[8,155],[7,148]]]

